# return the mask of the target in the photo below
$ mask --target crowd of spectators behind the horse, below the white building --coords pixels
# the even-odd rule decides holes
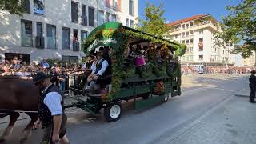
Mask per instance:
[[[44,72],[50,76],[50,81],[62,90],[64,94],[69,94],[70,86],[79,86],[78,76],[82,74],[82,66],[78,64],[65,64],[64,66],[55,63],[50,66],[46,61],[40,63],[19,62],[18,59],[0,62],[0,74],[2,76],[15,75],[22,78],[32,78],[33,74]],[[81,87],[80,87],[81,88]]]

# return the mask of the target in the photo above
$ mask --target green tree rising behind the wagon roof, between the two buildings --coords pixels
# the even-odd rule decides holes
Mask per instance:
[[[136,29],[162,38],[163,34],[170,30],[170,26],[165,23],[166,19],[162,17],[164,13],[165,10],[162,10],[162,3],[159,6],[154,6],[154,4],[147,2],[143,13],[145,19],[138,18],[139,23]]]

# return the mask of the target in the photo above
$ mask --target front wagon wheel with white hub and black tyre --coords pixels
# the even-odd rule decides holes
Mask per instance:
[[[104,117],[107,122],[116,122],[122,114],[121,102],[109,104],[104,108]]]

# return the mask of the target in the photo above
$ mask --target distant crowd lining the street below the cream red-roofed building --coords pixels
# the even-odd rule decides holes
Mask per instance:
[[[250,74],[255,70],[252,66],[182,66],[182,75],[193,74]]]

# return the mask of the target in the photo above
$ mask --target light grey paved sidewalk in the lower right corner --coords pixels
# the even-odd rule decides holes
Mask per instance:
[[[176,135],[169,144],[254,144],[256,104],[248,98],[231,96],[215,110]]]

